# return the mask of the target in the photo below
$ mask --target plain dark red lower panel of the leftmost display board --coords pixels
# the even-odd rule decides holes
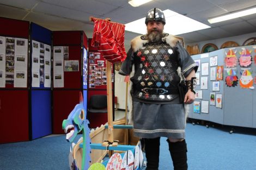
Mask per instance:
[[[0,143],[29,140],[28,91],[0,91]]]

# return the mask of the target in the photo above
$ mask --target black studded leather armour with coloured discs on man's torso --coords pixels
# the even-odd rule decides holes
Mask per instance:
[[[143,100],[170,101],[178,95],[180,77],[178,52],[167,43],[146,43],[135,52],[133,97]]]

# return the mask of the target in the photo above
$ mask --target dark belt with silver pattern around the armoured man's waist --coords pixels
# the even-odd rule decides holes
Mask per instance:
[[[161,89],[161,88],[144,88],[141,89],[144,93],[149,93],[152,95],[173,95],[179,94],[178,88],[168,88],[168,89]]]

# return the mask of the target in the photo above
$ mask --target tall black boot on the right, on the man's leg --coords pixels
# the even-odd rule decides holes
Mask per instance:
[[[172,156],[174,170],[187,170],[187,144],[183,140],[181,142],[170,142],[169,144],[170,156]]]

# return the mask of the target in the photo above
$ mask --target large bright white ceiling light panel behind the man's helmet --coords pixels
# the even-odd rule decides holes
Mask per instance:
[[[172,35],[179,35],[184,33],[194,32],[200,29],[210,28],[206,24],[188,18],[184,15],[169,9],[163,11],[166,17],[166,24],[164,25],[163,32]],[[139,20],[125,24],[125,30],[133,33],[147,34],[147,28],[145,26],[145,17]]]

